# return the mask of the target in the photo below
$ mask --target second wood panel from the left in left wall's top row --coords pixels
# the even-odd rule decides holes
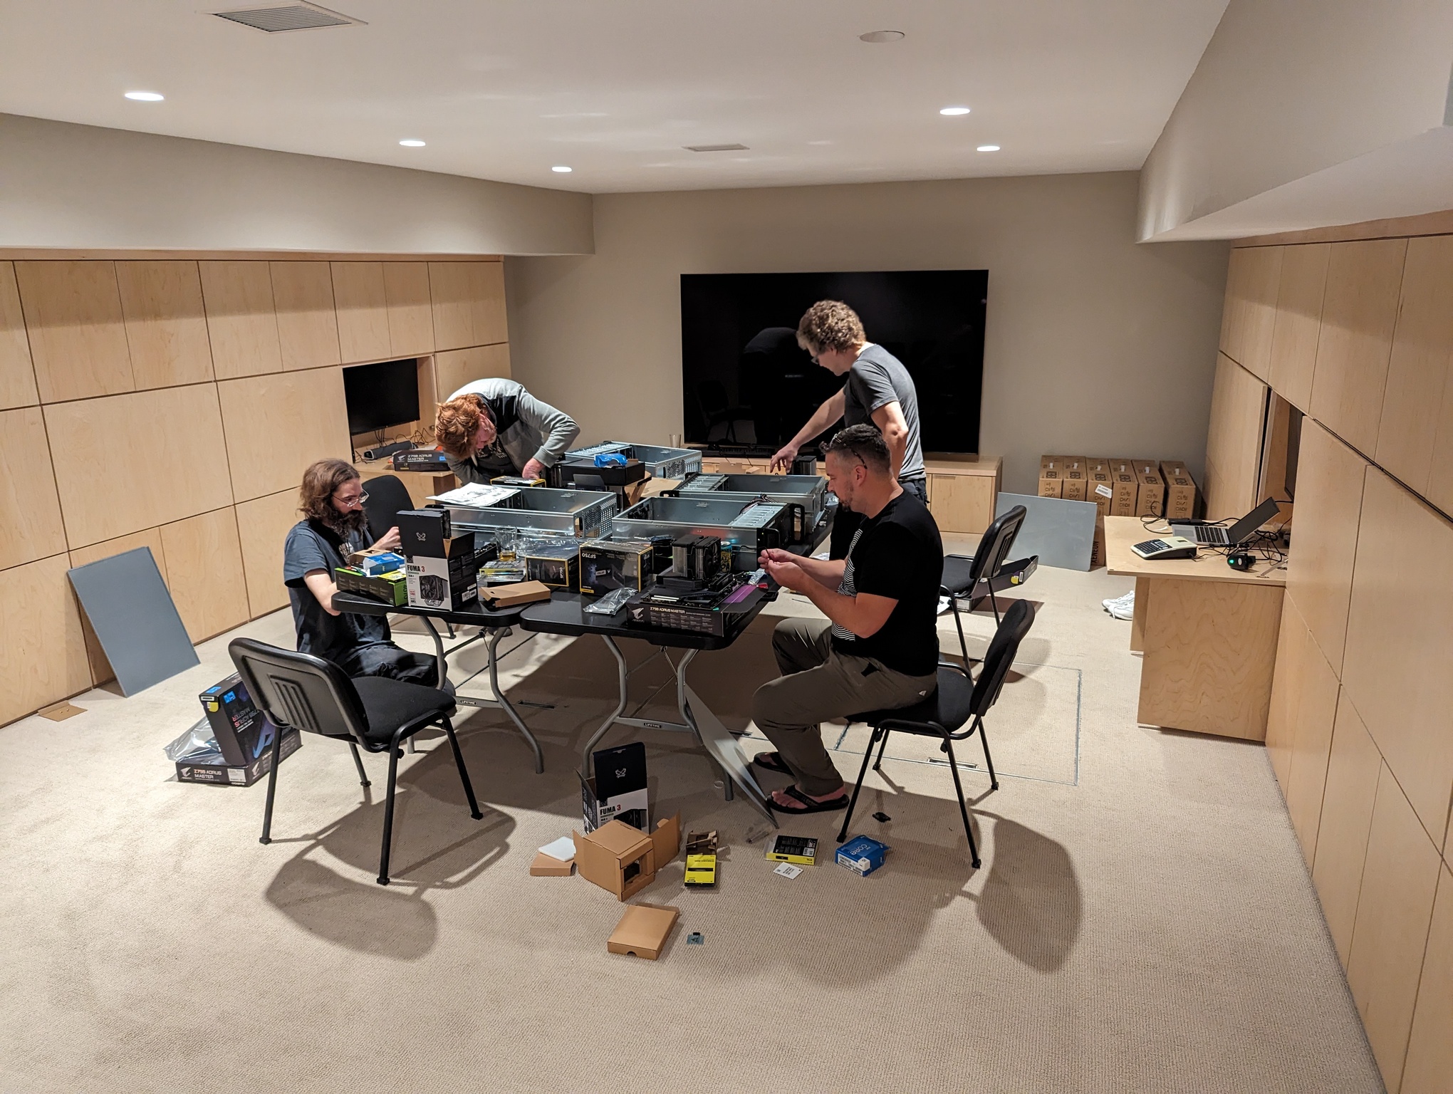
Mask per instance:
[[[113,262],[17,262],[42,402],[131,391],[131,352]]]

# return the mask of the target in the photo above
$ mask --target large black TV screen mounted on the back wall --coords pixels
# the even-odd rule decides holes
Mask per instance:
[[[760,453],[792,440],[844,382],[796,343],[802,312],[833,299],[907,366],[924,452],[978,452],[988,282],[988,270],[683,273],[687,443]]]

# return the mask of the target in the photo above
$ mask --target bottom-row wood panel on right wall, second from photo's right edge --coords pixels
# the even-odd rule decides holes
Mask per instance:
[[[1402,1082],[1418,976],[1443,867],[1392,771],[1377,777],[1347,985],[1388,1090]]]

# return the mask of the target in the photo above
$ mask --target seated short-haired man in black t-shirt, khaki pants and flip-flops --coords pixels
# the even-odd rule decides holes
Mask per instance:
[[[847,787],[822,747],[828,718],[911,706],[937,687],[943,540],[924,504],[894,479],[888,445],[867,424],[827,446],[828,484],[863,520],[847,558],[761,552],[785,588],[827,619],[783,619],[772,636],[782,677],[757,689],[753,719],[777,747],[754,763],[793,777],[772,796],[777,812],[847,806]]]

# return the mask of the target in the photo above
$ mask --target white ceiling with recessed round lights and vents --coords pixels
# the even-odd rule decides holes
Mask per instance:
[[[368,25],[278,35],[208,15],[241,6],[3,0],[0,112],[593,193],[1135,170],[1226,0],[331,0]],[[859,41],[878,29],[907,38]],[[750,151],[681,148],[725,142]]]

